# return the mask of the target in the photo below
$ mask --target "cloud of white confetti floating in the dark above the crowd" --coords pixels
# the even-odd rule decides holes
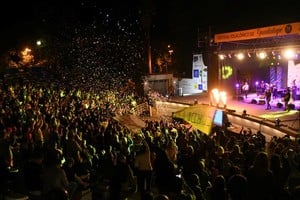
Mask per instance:
[[[147,70],[139,17],[120,16],[112,9],[99,11],[92,22],[68,25],[59,37],[61,69],[57,73],[72,86],[117,89],[129,80],[136,82]]]

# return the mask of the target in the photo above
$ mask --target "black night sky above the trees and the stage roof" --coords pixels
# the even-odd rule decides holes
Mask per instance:
[[[111,0],[109,3],[45,0],[5,4],[0,7],[0,54],[40,35],[57,34],[66,24],[90,24],[101,19],[99,15],[105,10],[120,19],[130,15],[130,20],[141,20],[144,29],[151,19],[153,47],[172,44],[179,65],[186,66],[191,65],[197,39],[203,39],[198,38],[198,33],[204,37],[210,30],[213,37],[214,33],[300,21],[296,0]]]

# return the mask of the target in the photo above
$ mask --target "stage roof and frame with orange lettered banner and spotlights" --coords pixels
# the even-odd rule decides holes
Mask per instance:
[[[215,34],[214,47],[213,53],[219,56],[219,86],[224,85],[222,73],[224,63],[228,63],[226,59],[233,60],[238,54],[243,54],[245,58],[254,58],[258,57],[259,53],[264,52],[275,63],[274,65],[267,65],[270,76],[268,81],[270,83],[277,82],[277,88],[286,88],[288,86],[287,67],[277,64],[277,61],[284,57],[283,50],[287,48],[294,50],[297,56],[294,60],[299,61],[300,22]],[[225,71],[228,72],[230,70],[228,65],[225,67],[227,67]],[[239,72],[235,70],[232,68],[233,73],[236,73],[235,76],[238,76]],[[259,72],[261,73],[261,71]],[[238,78],[235,77],[235,79],[237,82]]]

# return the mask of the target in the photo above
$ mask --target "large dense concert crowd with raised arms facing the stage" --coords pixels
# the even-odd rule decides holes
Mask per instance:
[[[300,140],[146,119],[138,132],[115,120],[144,102],[133,85],[91,90],[3,78],[1,195],[31,199],[284,200],[300,198]],[[107,89],[104,89],[107,88]]]

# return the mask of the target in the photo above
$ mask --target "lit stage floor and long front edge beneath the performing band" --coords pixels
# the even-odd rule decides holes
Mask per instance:
[[[261,103],[254,103],[254,100]],[[195,102],[199,104],[210,103],[209,95],[207,93],[184,97],[172,97],[170,101],[185,104],[193,104]],[[282,103],[282,99],[272,99],[271,109],[266,110],[267,105],[265,102],[262,102],[262,98],[259,98],[256,93],[250,93],[247,98],[230,96],[227,98],[226,108],[224,108],[223,105],[221,105],[220,108],[224,109],[229,115],[234,117],[235,129],[238,131],[241,126],[247,127],[254,123],[263,123],[269,126],[274,133],[277,130],[280,130],[283,133],[298,137],[298,135],[300,135],[300,101],[293,102],[295,108],[290,111],[285,111],[284,106],[278,107],[278,103]],[[244,111],[247,114],[247,120],[244,120],[242,117]],[[278,119],[280,124],[279,126],[276,126],[276,120]],[[271,130],[268,131],[272,132]]]

